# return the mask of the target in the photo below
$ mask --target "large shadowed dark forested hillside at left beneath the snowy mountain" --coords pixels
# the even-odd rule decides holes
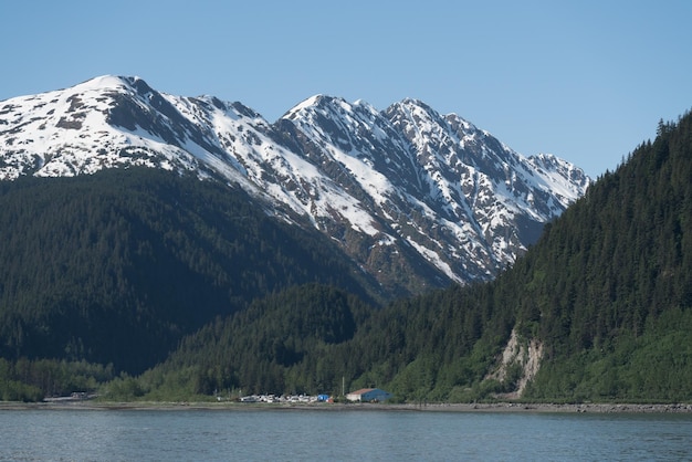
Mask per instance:
[[[281,287],[378,296],[327,239],[245,192],[155,169],[0,182],[0,356],[139,372]],[[371,298],[370,298],[371,300]]]

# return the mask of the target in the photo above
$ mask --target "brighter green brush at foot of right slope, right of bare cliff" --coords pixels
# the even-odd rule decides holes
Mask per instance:
[[[670,309],[635,336],[622,332],[608,348],[552,360],[528,397],[581,402],[689,401],[692,397],[692,311]]]

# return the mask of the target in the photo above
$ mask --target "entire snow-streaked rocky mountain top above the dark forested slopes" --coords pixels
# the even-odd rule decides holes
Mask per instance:
[[[415,99],[380,112],[318,95],[270,124],[240,103],[103,76],[0,102],[0,179],[133,165],[239,183],[401,292],[492,279],[590,183]]]

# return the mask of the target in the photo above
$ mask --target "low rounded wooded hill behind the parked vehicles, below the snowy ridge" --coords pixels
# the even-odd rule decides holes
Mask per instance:
[[[141,381],[156,397],[176,393],[171,381],[200,395],[227,389],[332,391],[340,386],[345,358],[331,353],[354,337],[370,312],[355,296],[333,287],[290,288],[185,338],[169,360]]]

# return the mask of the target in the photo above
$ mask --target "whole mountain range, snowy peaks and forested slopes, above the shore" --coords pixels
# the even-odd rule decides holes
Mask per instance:
[[[692,397],[690,113],[593,185],[411,99],[269,124],[103,77],[0,127],[0,400]],[[473,259],[539,229],[506,271]]]

